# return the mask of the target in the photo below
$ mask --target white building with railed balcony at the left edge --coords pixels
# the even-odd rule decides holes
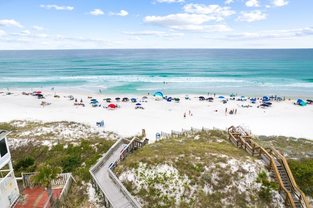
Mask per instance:
[[[20,194],[6,139],[9,133],[0,129],[0,208],[10,208]]]

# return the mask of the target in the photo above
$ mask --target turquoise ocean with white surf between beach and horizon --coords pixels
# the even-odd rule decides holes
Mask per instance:
[[[0,50],[0,74],[3,92],[53,87],[313,99],[313,49]]]

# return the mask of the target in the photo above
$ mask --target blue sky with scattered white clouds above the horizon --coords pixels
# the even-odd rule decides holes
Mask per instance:
[[[0,0],[0,50],[313,48],[313,0]]]

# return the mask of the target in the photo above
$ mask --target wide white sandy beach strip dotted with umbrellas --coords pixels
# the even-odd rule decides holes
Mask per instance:
[[[152,96],[153,93],[140,96],[106,95],[105,93],[77,93],[75,90],[59,92],[57,95],[60,98],[55,98],[52,90],[40,91],[45,99],[23,95],[20,90],[10,90],[13,93],[11,95],[6,95],[7,91],[2,91],[0,93],[0,122],[12,120],[73,121],[91,125],[101,131],[113,131],[125,137],[141,134],[142,129],[145,129],[146,137],[151,142],[156,140],[156,133],[161,133],[161,131],[171,133],[172,130],[181,131],[181,129],[191,129],[191,127],[225,129],[231,125],[246,126],[251,130],[252,135],[282,135],[313,140],[310,126],[313,118],[313,104],[294,105],[293,103],[297,99],[272,101],[272,105],[269,107],[257,107],[261,100],[252,104],[249,100],[229,100],[229,95],[223,95],[225,99],[228,98],[228,102],[223,104],[223,99],[219,99],[218,97],[221,95],[218,94],[213,102],[199,100],[199,96],[207,97],[206,95],[189,95],[190,100],[186,100],[183,94],[172,96],[173,98],[179,97],[179,102],[174,100],[167,102],[166,100],[156,100],[156,97]],[[74,96],[74,100],[67,97],[70,94]],[[88,96],[99,101],[98,105],[101,104],[101,106],[92,107],[91,98]],[[147,96],[148,99],[143,100],[143,96]],[[242,95],[237,96],[236,99],[240,96]],[[245,96],[247,99],[249,95]],[[137,102],[115,101],[116,97],[136,98]],[[104,100],[106,98],[111,98],[111,103],[106,102]],[[74,105],[75,99],[77,99],[77,103],[80,103],[82,99],[85,107]],[[312,98],[300,99],[306,101]],[[42,101],[51,104],[43,106],[41,105]],[[135,109],[137,103],[142,104],[144,109]],[[120,107],[115,109],[103,107],[108,104],[118,104]],[[242,105],[252,107],[242,107]],[[227,113],[225,113],[226,107]],[[230,115],[231,109],[237,109],[237,113]],[[189,110],[192,115],[189,115]],[[183,118],[184,113],[186,113],[185,119]],[[102,120],[104,126],[98,127],[96,122]]]

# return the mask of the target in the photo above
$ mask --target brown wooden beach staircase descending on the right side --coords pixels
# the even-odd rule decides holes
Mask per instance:
[[[258,156],[268,165],[278,183],[278,191],[288,208],[310,208],[305,194],[297,187],[288,166],[286,158],[274,147],[262,147],[254,142],[250,134],[241,126],[230,126],[228,129],[230,141],[237,147],[242,147],[252,156]]]

